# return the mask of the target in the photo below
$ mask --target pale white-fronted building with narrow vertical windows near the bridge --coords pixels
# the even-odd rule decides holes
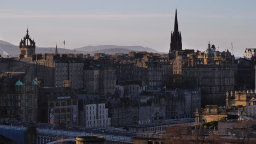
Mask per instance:
[[[105,104],[84,105],[85,127],[111,127],[111,118]]]

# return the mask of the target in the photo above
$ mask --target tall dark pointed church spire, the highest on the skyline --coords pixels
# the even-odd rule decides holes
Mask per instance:
[[[169,52],[180,51],[180,50],[182,50],[182,37],[181,37],[181,32],[179,32],[179,28],[178,28],[178,17],[177,17],[177,9],[176,9],[174,31],[171,33],[171,44],[170,44]]]

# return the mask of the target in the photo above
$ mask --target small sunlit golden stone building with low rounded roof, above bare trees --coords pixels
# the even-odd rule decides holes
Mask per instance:
[[[196,109],[195,124],[208,123],[211,121],[220,121],[226,119],[228,113],[226,110],[218,110],[217,105],[206,105],[205,109]]]

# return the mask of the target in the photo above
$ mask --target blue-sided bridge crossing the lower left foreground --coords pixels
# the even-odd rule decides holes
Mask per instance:
[[[27,127],[14,125],[0,125],[0,135],[7,137],[19,144],[26,143]],[[120,136],[112,134],[86,133],[84,131],[68,131],[37,128],[37,144],[58,143],[59,141],[74,140],[77,136],[102,136],[107,141],[119,141],[132,143],[132,136]]]

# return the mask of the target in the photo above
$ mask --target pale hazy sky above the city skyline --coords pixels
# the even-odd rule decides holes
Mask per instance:
[[[175,9],[183,49],[205,50],[208,41],[235,56],[256,48],[256,1],[1,1],[0,39],[18,45],[26,28],[37,46],[86,45],[170,48]]]

